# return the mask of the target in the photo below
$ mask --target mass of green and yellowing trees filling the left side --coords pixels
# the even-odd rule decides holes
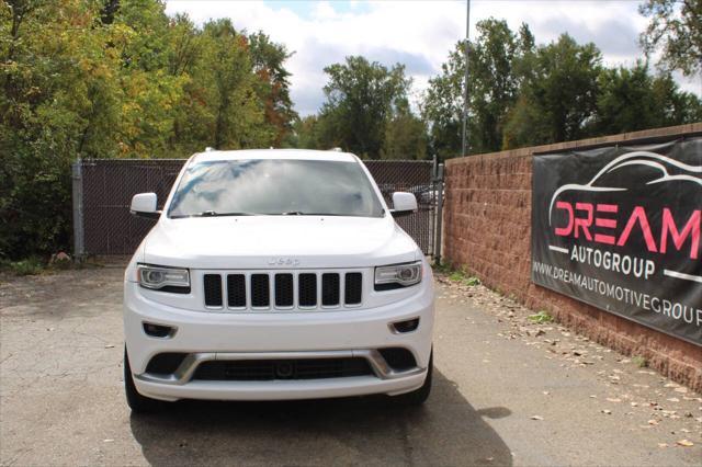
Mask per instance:
[[[291,132],[290,54],[156,0],[0,8],[0,258],[70,249],[70,164],[268,147]]]

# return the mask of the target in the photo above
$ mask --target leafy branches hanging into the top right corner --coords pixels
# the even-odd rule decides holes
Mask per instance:
[[[646,0],[638,11],[650,18],[639,38],[647,55],[660,49],[665,69],[702,72],[702,1]]]

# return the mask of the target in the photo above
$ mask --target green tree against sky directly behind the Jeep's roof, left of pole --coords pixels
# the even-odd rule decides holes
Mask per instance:
[[[405,77],[405,67],[387,69],[359,56],[330,65],[325,72],[329,81],[319,115],[321,144],[380,158],[386,124],[397,102],[407,99],[410,80]]]

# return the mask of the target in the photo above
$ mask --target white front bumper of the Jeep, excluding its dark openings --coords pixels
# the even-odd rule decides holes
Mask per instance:
[[[412,287],[415,288],[415,287]],[[417,330],[395,333],[389,323],[419,318]],[[169,326],[169,338],[145,333],[143,323]],[[369,309],[304,312],[189,311],[150,300],[137,284],[126,282],[124,328],[137,390],[155,399],[282,400],[397,395],[419,388],[427,376],[433,329],[433,284],[423,281],[415,293]],[[416,367],[394,371],[377,352],[404,348]],[[146,372],[159,353],[188,353],[169,376]],[[373,375],[327,379],[196,380],[197,365],[215,360],[281,360],[363,357]]]

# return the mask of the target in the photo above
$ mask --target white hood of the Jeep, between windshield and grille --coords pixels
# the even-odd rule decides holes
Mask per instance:
[[[416,261],[415,241],[389,217],[162,217],[143,262],[192,269],[369,267]]]

